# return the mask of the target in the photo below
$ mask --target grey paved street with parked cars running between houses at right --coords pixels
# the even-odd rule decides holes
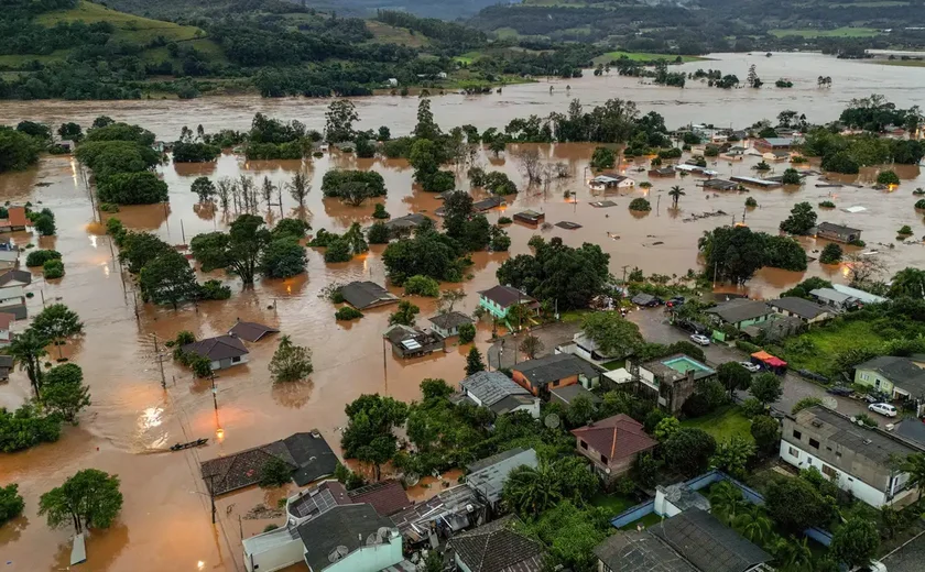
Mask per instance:
[[[667,322],[665,315],[660,308],[650,308],[630,312],[628,318],[635,322],[643,338],[650,342],[673,343],[681,340],[688,340],[688,333],[675,328]],[[704,353],[710,365],[718,365],[725,362],[740,362],[748,360],[748,356],[736,348],[722,343],[712,343],[704,348]],[[804,397],[831,397],[836,400],[835,409],[845,415],[858,415],[867,411],[867,404],[862,404],[847,397],[831,396],[818,385],[810,383],[798,375],[787,373],[783,383],[784,394],[774,406],[782,411],[790,413],[793,406]],[[740,392],[748,396],[748,392]],[[877,416],[874,416],[877,417]],[[884,418],[885,419],[885,418]]]

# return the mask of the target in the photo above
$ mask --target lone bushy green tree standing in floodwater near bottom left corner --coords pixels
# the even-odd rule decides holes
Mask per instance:
[[[47,517],[50,527],[73,524],[77,534],[109,528],[121,509],[119,477],[97,469],[78,471],[39,498],[39,516]]]

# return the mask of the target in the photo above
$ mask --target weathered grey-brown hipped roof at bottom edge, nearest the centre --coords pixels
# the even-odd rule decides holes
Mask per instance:
[[[519,522],[505,516],[454,536],[449,546],[471,572],[541,572],[543,546],[513,530]]]

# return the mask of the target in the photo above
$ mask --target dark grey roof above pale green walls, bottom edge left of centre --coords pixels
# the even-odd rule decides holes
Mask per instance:
[[[335,506],[298,526],[298,536],[305,544],[305,562],[319,572],[331,564],[329,557],[338,547],[347,547],[347,554],[350,554],[364,547],[370,535],[376,535],[380,528],[387,528],[391,534],[394,525],[379,516],[372,505]]]

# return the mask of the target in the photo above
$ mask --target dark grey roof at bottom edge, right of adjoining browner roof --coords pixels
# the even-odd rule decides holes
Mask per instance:
[[[771,554],[699,508],[662,520],[649,530],[703,571],[746,572],[771,560]]]

